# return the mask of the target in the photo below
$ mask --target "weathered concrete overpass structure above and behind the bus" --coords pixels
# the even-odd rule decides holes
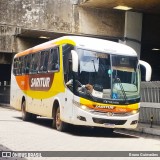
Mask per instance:
[[[115,10],[119,5],[131,10]],[[143,15],[155,17],[159,12],[158,0],[1,0],[0,51],[19,51],[15,46],[17,37],[52,39],[78,34],[141,42]]]

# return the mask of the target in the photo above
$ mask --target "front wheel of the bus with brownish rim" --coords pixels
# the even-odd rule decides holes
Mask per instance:
[[[68,124],[63,122],[60,119],[60,107],[57,108],[56,115],[55,115],[55,118],[53,120],[53,127],[56,128],[58,131],[61,131],[61,132],[66,131],[67,128],[68,128]]]

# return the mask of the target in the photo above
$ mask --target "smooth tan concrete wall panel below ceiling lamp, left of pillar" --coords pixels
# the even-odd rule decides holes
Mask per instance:
[[[79,8],[79,33],[101,37],[124,35],[124,12],[97,8]]]

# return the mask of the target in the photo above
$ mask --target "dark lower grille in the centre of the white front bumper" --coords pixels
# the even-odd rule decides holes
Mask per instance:
[[[126,120],[112,120],[112,119],[102,119],[102,118],[92,118],[94,123],[99,124],[115,124],[115,125],[123,125],[126,123]]]

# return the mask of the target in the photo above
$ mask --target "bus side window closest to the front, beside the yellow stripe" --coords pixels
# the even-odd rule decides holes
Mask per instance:
[[[48,71],[59,71],[59,48],[53,48],[50,50]]]

